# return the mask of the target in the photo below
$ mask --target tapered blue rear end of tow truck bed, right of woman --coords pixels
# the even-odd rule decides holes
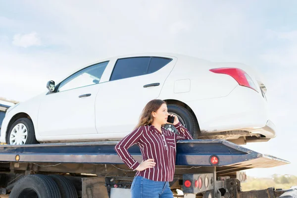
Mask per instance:
[[[218,166],[269,168],[290,163],[226,140],[184,140],[178,145],[178,165],[209,166],[209,157],[213,154],[220,158]]]

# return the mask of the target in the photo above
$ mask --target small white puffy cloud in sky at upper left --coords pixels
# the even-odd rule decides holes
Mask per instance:
[[[28,48],[31,46],[41,46],[41,40],[36,32],[29,34],[16,34],[13,37],[12,44],[14,46]]]

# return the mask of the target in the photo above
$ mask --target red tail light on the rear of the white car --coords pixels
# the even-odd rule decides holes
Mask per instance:
[[[258,92],[256,90],[256,86],[253,83],[252,79],[242,69],[232,68],[232,67],[224,67],[224,68],[210,69],[209,71],[211,71],[213,73],[217,73],[217,74],[227,74],[227,75],[233,77],[239,85],[248,87],[248,88],[253,89],[256,92]]]

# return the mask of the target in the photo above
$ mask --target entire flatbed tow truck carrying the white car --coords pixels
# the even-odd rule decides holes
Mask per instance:
[[[0,145],[0,197],[130,198],[135,171],[115,152],[117,143]],[[142,160],[137,145],[128,150]],[[169,184],[178,198],[297,198],[297,186],[247,192],[241,188],[247,179],[244,170],[288,163],[226,140],[183,140],[177,143],[175,175]]]

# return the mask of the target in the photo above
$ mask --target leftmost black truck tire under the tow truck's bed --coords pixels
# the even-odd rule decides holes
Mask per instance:
[[[28,175],[15,184],[9,198],[61,198],[61,194],[49,176]]]

